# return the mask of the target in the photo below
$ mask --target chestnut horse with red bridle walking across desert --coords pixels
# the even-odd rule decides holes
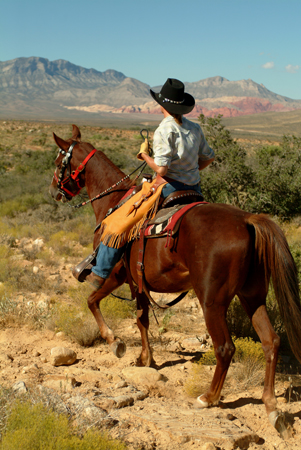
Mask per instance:
[[[96,223],[100,224],[108,209],[118,203],[129,187],[128,181],[123,181],[118,189],[107,191],[124,177],[124,173],[101,151],[92,155],[94,148],[81,142],[80,131],[75,125],[71,139],[63,140],[54,134],[54,140],[60,152],[50,186],[52,197],[57,201],[69,201],[84,185],[90,199],[104,191],[106,195],[92,202]],[[70,173],[76,174],[74,180],[70,179]],[[98,242],[96,233],[94,248]],[[270,278],[290,345],[301,361],[297,271],[283,232],[266,215],[250,214],[230,205],[205,204],[194,207],[184,216],[175,248],[165,247],[165,243],[165,238],[147,239],[144,259],[146,285],[151,291],[160,293],[178,293],[193,288],[199,299],[217,361],[208,391],[198,398],[199,406],[208,407],[219,402],[235,352],[226,314],[236,295],[262,343],[266,358],[262,400],[271,423],[279,428],[282,416],[276,406],[274,379],[280,339],[266,311]],[[139,242],[134,241],[129,255],[130,272],[136,283],[138,246]],[[88,306],[102,337],[118,357],[123,356],[125,344],[106,325],[99,303],[122,285],[126,276],[124,264],[120,261],[104,286],[88,298]],[[148,299],[144,294],[138,295],[137,299],[137,325],[142,339],[138,363],[149,366],[152,352],[148,340]]]

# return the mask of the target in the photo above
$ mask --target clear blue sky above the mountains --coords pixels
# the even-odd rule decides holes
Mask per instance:
[[[0,0],[0,60],[40,56],[150,86],[252,79],[301,99],[301,0]]]

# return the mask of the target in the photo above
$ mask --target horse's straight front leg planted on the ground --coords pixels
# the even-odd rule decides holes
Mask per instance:
[[[136,361],[137,366],[149,367],[154,364],[152,349],[149,345],[148,329],[149,329],[149,300],[144,294],[137,294],[137,325],[141,333],[142,350]]]

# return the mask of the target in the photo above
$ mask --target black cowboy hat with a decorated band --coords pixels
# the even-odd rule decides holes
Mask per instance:
[[[188,114],[193,110],[195,100],[184,92],[185,86],[180,80],[168,78],[157,94],[150,89],[151,96],[159,105],[171,114]]]

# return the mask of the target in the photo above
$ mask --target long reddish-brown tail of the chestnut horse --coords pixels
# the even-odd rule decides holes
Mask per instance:
[[[294,355],[301,362],[301,305],[295,261],[280,227],[264,214],[254,214],[246,222],[255,229],[255,249],[270,277],[280,315]]]

